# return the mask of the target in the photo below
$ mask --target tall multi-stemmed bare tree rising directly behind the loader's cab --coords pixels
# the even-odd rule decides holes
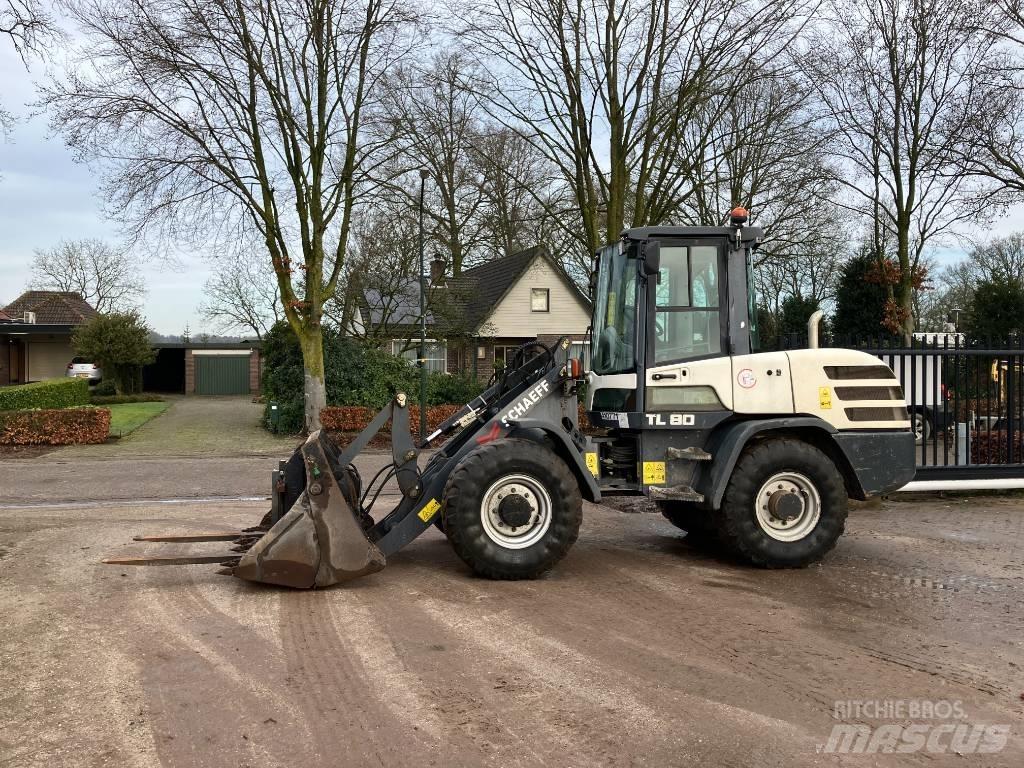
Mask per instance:
[[[477,0],[465,38],[496,119],[558,169],[584,253],[667,220],[689,189],[675,148],[714,94],[792,41],[802,0]],[[742,34],[736,34],[742,30]]]

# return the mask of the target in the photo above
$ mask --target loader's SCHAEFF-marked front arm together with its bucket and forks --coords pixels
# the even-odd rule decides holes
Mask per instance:
[[[478,446],[511,434],[546,434],[575,473],[584,495],[599,499],[596,481],[583,460],[585,438],[580,433],[577,406],[581,367],[570,362],[568,348],[564,338],[553,347],[524,345],[512,357],[514,362],[506,373],[419,445],[410,433],[409,398],[401,392],[343,450],[323,431],[313,432],[275,473],[278,498],[271,511],[253,528],[137,539],[231,541],[236,545],[232,552],[241,553],[238,556],[122,558],[109,562],[220,562],[224,566],[221,572],[240,579],[306,589],[349,581],[380,570],[389,555],[433,525],[442,514],[444,486],[453,470]],[[388,422],[391,466],[364,488],[353,462]],[[439,439],[443,443],[421,468],[421,453]],[[400,499],[375,522],[371,516],[374,502],[391,477],[397,482]]]

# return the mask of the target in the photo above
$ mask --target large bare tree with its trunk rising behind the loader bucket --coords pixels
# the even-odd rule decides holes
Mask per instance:
[[[136,232],[260,233],[302,348],[310,430],[326,403],[324,303],[389,140],[370,130],[382,79],[415,36],[402,2],[82,0],[85,42],[46,93]]]

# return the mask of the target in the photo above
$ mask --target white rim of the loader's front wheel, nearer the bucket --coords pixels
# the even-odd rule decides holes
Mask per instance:
[[[510,502],[516,505],[516,512],[524,512],[528,517],[522,524],[513,525],[509,521]],[[484,493],[480,502],[480,521],[483,531],[495,544],[506,549],[531,547],[544,538],[551,526],[551,496],[535,477],[505,475]]]

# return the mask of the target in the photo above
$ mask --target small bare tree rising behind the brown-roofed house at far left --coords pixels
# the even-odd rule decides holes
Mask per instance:
[[[81,294],[99,312],[129,312],[145,294],[138,267],[128,251],[100,240],[62,241],[36,251],[30,286]]]

